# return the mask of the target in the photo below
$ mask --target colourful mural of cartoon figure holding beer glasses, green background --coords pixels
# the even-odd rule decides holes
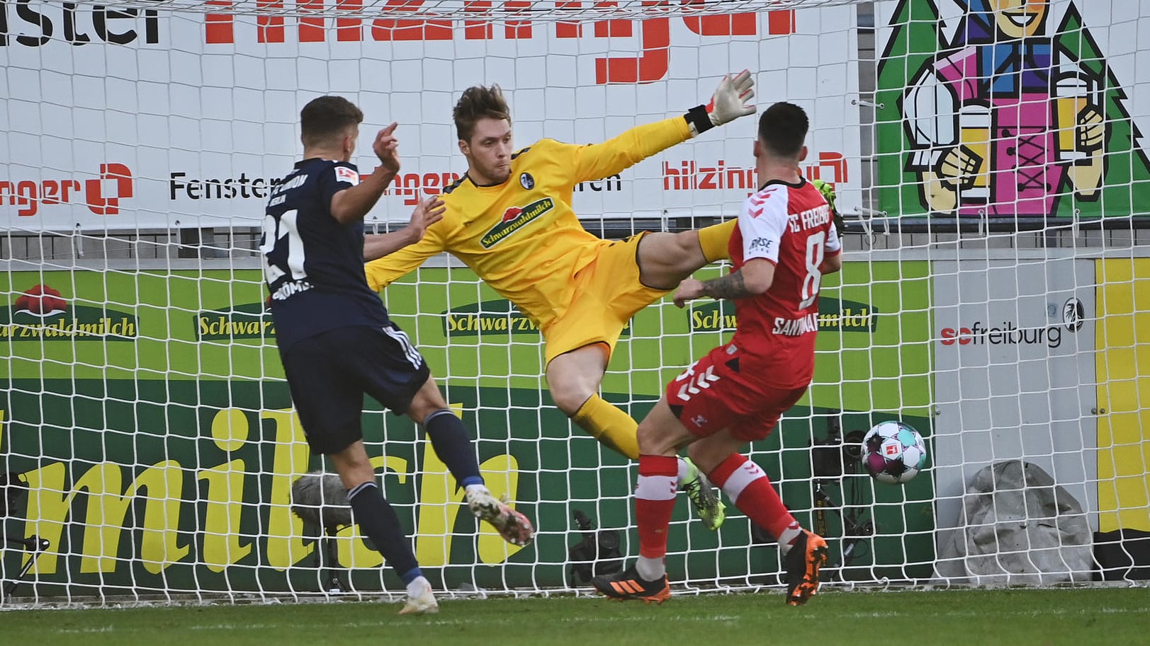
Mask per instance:
[[[902,0],[887,36],[877,140],[888,212],[1044,218],[1147,208],[1141,133],[1075,3]]]

